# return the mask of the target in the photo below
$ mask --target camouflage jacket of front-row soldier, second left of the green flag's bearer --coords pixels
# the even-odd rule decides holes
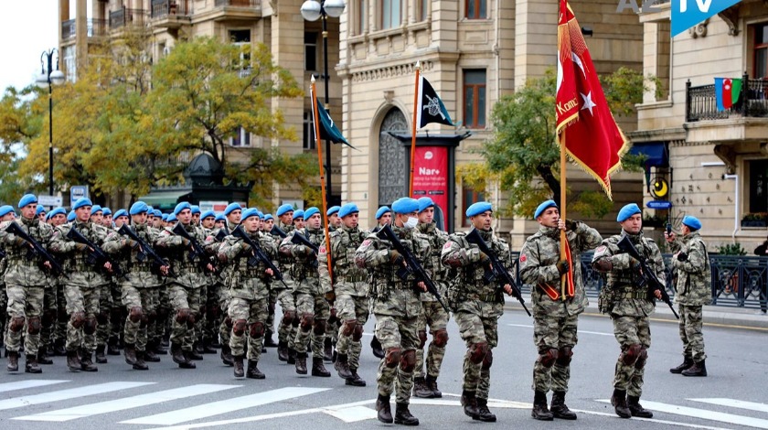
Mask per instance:
[[[277,248],[269,234],[256,232],[248,233],[248,235],[251,241],[261,246],[261,251],[269,259],[274,261],[277,258]],[[226,285],[229,288],[230,296],[247,300],[269,297],[269,285],[272,276],[266,273],[267,265],[261,261],[254,266],[248,264],[254,254],[245,241],[234,236],[227,236],[219,246],[218,256],[220,262],[227,263],[229,266]]]

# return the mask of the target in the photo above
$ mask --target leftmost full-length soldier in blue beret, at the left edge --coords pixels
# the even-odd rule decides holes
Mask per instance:
[[[8,352],[8,371],[18,371],[18,350],[21,347],[22,329],[27,325],[25,340],[27,373],[40,373],[37,364],[37,350],[40,345],[43,301],[49,288],[46,267],[49,262],[28,259],[30,245],[15,234],[5,231],[12,222],[37,241],[41,246],[49,245],[53,229],[37,218],[37,197],[27,194],[18,202],[21,211],[19,220],[6,220],[0,224],[0,242],[4,244],[6,265],[4,270],[5,293],[8,297],[6,313],[9,317],[5,334],[5,350]],[[7,215],[7,214],[6,214]]]

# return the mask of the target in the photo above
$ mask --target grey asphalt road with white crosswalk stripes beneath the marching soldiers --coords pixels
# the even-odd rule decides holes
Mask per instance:
[[[367,330],[372,328],[368,323]],[[708,378],[671,375],[680,357],[677,326],[652,324],[653,345],[645,372],[645,407],[652,420],[622,420],[605,401],[612,392],[618,348],[604,317],[582,317],[580,344],[572,363],[567,401],[579,412],[575,423],[539,423],[530,418],[531,369],[536,358],[531,320],[513,310],[499,321],[501,346],[492,369],[490,404],[499,423],[545,429],[768,428],[768,346],[764,330],[707,328]],[[443,399],[414,399],[411,412],[420,428],[481,425],[458,406],[464,345],[455,326],[439,382]],[[368,341],[368,336],[364,340]],[[207,355],[196,371],[184,371],[165,356],[150,371],[132,371],[118,357],[97,373],[70,373],[62,358],[41,375],[0,374],[0,426],[32,429],[144,428],[381,428],[373,403],[378,361],[364,349],[368,387],[347,387],[332,378],[302,377],[277,360],[263,357],[264,381],[237,380],[231,368]],[[5,363],[4,363],[5,364]],[[479,427],[478,427],[479,428]]]

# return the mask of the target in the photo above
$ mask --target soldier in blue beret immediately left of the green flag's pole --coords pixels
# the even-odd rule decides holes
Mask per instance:
[[[312,375],[329,377],[331,373],[325,370],[323,356],[325,328],[331,309],[318,279],[317,255],[308,246],[292,242],[294,234],[304,234],[309,242],[319,247],[325,241],[325,232],[321,227],[320,211],[317,208],[309,208],[304,212],[304,216],[304,231],[292,231],[280,244],[280,253],[295,259],[291,278],[293,294],[296,297],[296,312],[300,320],[294,344],[296,373],[306,374],[306,345],[312,337]]]

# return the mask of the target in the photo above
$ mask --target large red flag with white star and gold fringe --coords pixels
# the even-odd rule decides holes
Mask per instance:
[[[611,174],[621,167],[621,156],[629,145],[613,119],[567,0],[560,0],[555,110],[558,143],[565,145],[568,156],[597,179],[611,199]]]

